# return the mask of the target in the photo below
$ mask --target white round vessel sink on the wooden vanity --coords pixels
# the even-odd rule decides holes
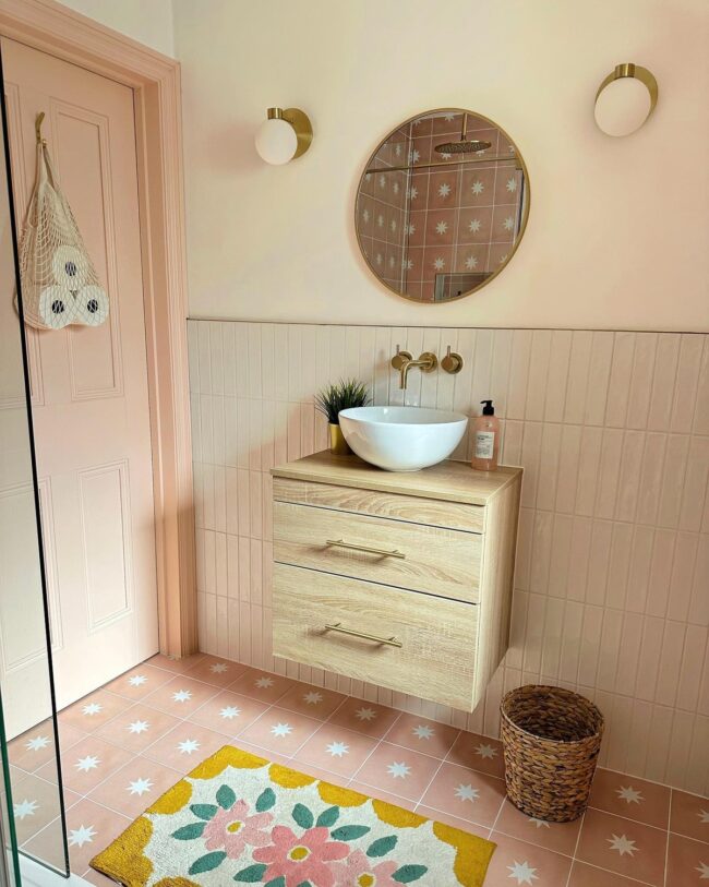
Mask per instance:
[[[387,471],[419,471],[453,453],[468,418],[426,407],[354,407],[340,412],[339,424],[365,462]]]

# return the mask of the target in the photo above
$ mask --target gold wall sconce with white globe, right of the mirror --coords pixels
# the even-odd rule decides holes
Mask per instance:
[[[606,135],[630,135],[658,104],[658,82],[647,68],[616,64],[596,93],[596,123]]]

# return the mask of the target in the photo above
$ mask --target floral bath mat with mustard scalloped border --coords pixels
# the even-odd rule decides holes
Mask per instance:
[[[125,887],[481,887],[494,849],[226,745],[91,864]]]

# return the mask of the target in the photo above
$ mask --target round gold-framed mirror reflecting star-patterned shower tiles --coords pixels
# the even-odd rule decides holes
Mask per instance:
[[[490,118],[437,108],[392,130],[369,158],[354,229],[373,274],[397,296],[448,302],[512,260],[529,217],[529,173]]]

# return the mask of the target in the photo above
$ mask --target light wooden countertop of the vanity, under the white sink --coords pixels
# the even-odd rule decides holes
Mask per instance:
[[[422,471],[383,471],[357,456],[333,456],[325,450],[278,465],[271,469],[271,474],[315,483],[486,505],[521,475],[521,468],[501,466],[497,471],[474,471],[466,463],[447,460]]]

